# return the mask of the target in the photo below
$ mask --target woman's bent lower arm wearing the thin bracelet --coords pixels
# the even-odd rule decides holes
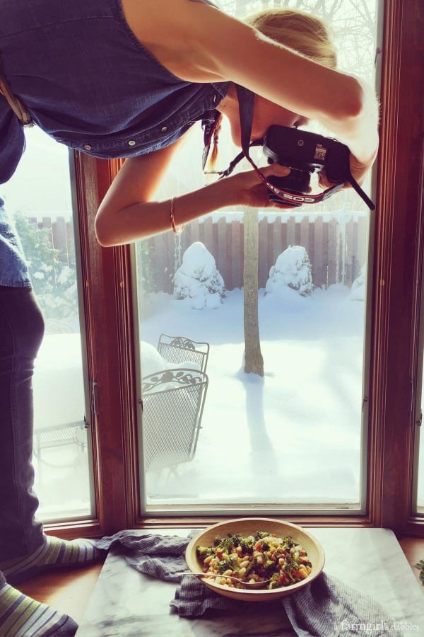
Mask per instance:
[[[95,217],[95,232],[102,246],[119,246],[171,228],[170,200],[153,201],[153,197],[179,143],[125,161]],[[261,172],[286,176],[290,171],[273,164]],[[175,201],[175,223],[185,224],[230,205],[271,205],[268,190],[254,171],[237,173],[181,195]]]

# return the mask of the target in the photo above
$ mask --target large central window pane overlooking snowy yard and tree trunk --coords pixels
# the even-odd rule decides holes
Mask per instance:
[[[290,4],[314,10],[311,2]],[[375,4],[321,7],[317,15],[334,28],[339,67],[374,82]],[[242,18],[252,6],[238,2],[228,10]],[[160,198],[204,183],[201,137],[199,126]],[[229,139],[223,127],[223,168],[238,152]],[[266,164],[261,151],[257,162]],[[179,236],[168,231],[139,243],[146,512],[365,510],[371,223],[362,200],[346,191],[295,212],[220,210],[187,224]],[[257,241],[253,249],[250,236]],[[243,272],[256,260],[258,282],[250,290],[256,272]],[[252,294],[258,343],[246,325]],[[201,377],[175,371],[192,367],[189,350],[184,354],[180,343],[179,357],[169,357],[159,343],[163,333],[208,343],[204,394]],[[263,358],[258,373],[245,368],[249,348]]]

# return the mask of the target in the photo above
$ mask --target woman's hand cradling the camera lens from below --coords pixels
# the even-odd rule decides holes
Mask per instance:
[[[290,174],[290,168],[280,166],[278,163],[259,168],[259,171],[264,177],[271,177],[272,175],[287,177]],[[254,170],[236,173],[223,181],[228,184],[228,188],[235,189],[237,202],[241,205],[252,208],[291,207],[283,205],[283,201],[281,202],[282,205],[269,201],[270,190]]]

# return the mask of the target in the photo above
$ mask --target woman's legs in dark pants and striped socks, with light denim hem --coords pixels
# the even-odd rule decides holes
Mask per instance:
[[[1,198],[0,334],[0,635],[73,635],[73,619],[13,587],[49,568],[86,565],[103,553],[90,540],[47,537],[34,517],[32,380],[44,321]]]

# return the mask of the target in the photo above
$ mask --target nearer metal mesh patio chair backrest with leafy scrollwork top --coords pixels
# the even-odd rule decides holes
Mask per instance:
[[[193,369],[164,369],[143,377],[145,469],[192,460],[196,452],[208,377]]]

